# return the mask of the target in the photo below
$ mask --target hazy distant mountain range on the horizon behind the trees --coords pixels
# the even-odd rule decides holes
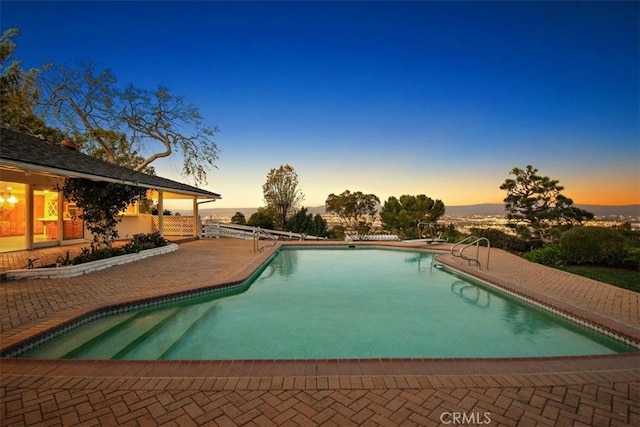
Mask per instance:
[[[640,217],[640,205],[604,206],[604,205],[576,205],[580,209],[593,212],[596,216],[625,216]],[[249,218],[258,208],[212,208],[201,209],[200,215],[214,215],[219,217],[231,217],[236,212],[242,212]],[[324,206],[307,207],[309,213],[324,214]],[[477,205],[447,206],[446,215],[449,216],[496,216],[505,215],[502,203],[481,203]]]

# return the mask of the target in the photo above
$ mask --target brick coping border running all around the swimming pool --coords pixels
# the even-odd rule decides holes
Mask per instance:
[[[157,295],[149,298],[139,299],[139,300],[131,300],[127,302],[121,302],[118,304],[111,304],[106,306],[101,306],[99,308],[93,308],[89,310],[79,310],[74,315],[68,316],[66,319],[52,319],[49,322],[46,322],[43,325],[38,326],[37,328],[32,328],[26,331],[23,331],[15,336],[10,337],[9,339],[3,340],[0,343],[0,352],[3,355],[0,360],[2,360],[3,365],[3,374],[8,373],[5,371],[5,368],[9,366],[28,366],[29,363],[27,361],[37,361],[41,364],[42,367],[46,366],[58,366],[59,362],[63,362],[61,359],[20,359],[13,357],[6,357],[5,354],[11,352],[13,349],[24,346],[29,342],[37,341],[42,336],[51,334],[56,330],[62,330],[73,322],[81,321],[83,318],[87,318],[89,316],[94,315],[98,312],[105,312],[113,309],[119,309],[122,307],[135,307],[139,304],[149,304],[156,305],[162,302],[166,302],[166,300],[170,300],[171,298],[188,298],[194,296],[197,293],[211,293],[217,292],[224,288],[236,287],[241,285],[243,282],[248,280],[252,275],[256,274],[262,267],[264,267],[268,261],[278,253],[278,250],[283,246],[301,246],[301,247],[310,247],[310,246],[363,246],[363,247],[394,247],[398,249],[404,250],[419,250],[419,251],[429,251],[429,252],[442,252],[448,251],[446,247],[414,247],[403,244],[402,242],[280,242],[278,243],[272,250],[268,251],[265,256],[260,257],[257,260],[249,263],[239,274],[239,278],[237,280],[233,280],[231,282],[226,282],[223,284],[216,284],[213,286],[201,286],[194,289],[184,290],[180,292],[174,292],[169,294]],[[438,262],[442,262],[440,259]],[[443,264],[447,265],[446,262]],[[459,267],[459,266],[457,266]],[[520,296],[524,294],[525,298],[528,293],[532,293],[530,290],[522,291],[522,290],[512,290],[511,284],[508,283],[500,283],[499,280],[495,280],[493,277],[489,277],[488,279],[485,277],[478,277],[476,274],[480,276],[486,276],[481,271],[474,271],[473,274],[468,273],[466,271],[461,271],[456,266],[447,265],[447,268],[450,268],[455,273],[462,274],[465,276],[469,276],[474,280],[479,280],[481,282],[487,282],[491,286],[497,286],[501,291],[509,293],[515,292]],[[553,304],[549,304],[548,298],[545,298],[544,295],[529,295],[534,301],[539,301],[545,309],[548,307],[554,307]],[[547,300],[547,301],[545,301]],[[572,309],[577,311],[578,313],[572,312]],[[588,312],[586,310],[579,309],[575,306],[570,306],[565,304],[565,307],[560,308],[562,311],[566,311],[570,315],[577,315],[577,317],[581,318],[581,315],[588,315],[589,317],[597,317],[599,319],[596,324],[606,324],[607,328],[612,330],[625,330],[630,329],[631,332],[637,335],[637,330],[634,328],[627,327],[624,324],[621,324],[616,321],[612,321],[611,319],[601,318],[602,316],[598,316],[596,313]],[[585,318],[588,321],[592,321],[589,317]],[[8,341],[8,342],[7,342]],[[631,363],[628,363],[631,361]],[[8,362],[11,362],[10,365],[7,365]],[[277,360],[210,360],[210,361],[201,361],[201,360],[181,360],[181,361],[115,361],[115,360],[91,360],[91,361],[82,361],[82,360],[69,360],[64,361],[63,365],[66,366],[68,363],[82,363],[82,366],[86,366],[87,364],[96,367],[96,366],[109,366],[106,368],[105,373],[108,373],[111,369],[116,366],[120,366],[122,364],[126,365],[127,363],[133,363],[134,365],[138,362],[140,363],[158,363],[160,365],[165,366],[177,366],[177,365],[193,365],[194,367],[198,367],[197,371],[200,372],[200,369],[207,366],[207,369],[215,369],[216,375],[222,376],[237,376],[238,373],[242,373],[245,376],[251,376],[255,374],[254,366],[260,366],[262,368],[266,368],[265,372],[274,371],[281,372],[282,367],[287,367],[289,370],[285,370],[285,372],[305,372],[305,374],[301,375],[318,375],[322,373],[323,375],[390,375],[393,372],[403,372],[406,375],[431,375],[434,372],[440,372],[438,369],[446,367],[445,371],[452,368],[456,368],[454,370],[459,371],[462,367],[473,367],[473,366],[487,366],[487,365],[495,365],[499,367],[498,371],[504,371],[505,368],[509,368],[511,371],[515,369],[519,371],[526,367],[527,370],[533,369],[535,366],[539,366],[541,362],[544,362],[544,369],[540,372],[551,372],[559,370],[561,372],[572,372],[575,370],[610,370],[610,369],[620,369],[622,366],[621,363],[627,368],[637,368],[640,366],[640,353],[622,353],[615,355],[596,355],[596,356],[553,356],[553,357],[525,357],[525,358],[418,358],[418,359],[297,359],[297,360],[287,360],[287,359],[277,359]],[[160,366],[159,365],[159,366]],[[582,368],[578,368],[578,365],[582,366]],[[62,365],[61,365],[62,366]],[[345,368],[345,367],[349,368]],[[439,367],[434,371],[434,367]],[[242,368],[241,368],[242,367]],[[410,369],[409,369],[410,368]],[[247,370],[248,369],[248,370]],[[291,371],[292,369],[292,371]],[[538,369],[538,368],[536,368]],[[262,369],[261,369],[262,370]],[[462,371],[466,371],[466,369],[462,369]],[[479,372],[477,369],[472,370],[473,372]],[[534,369],[535,371],[535,369]],[[166,370],[164,371],[166,373]],[[306,374],[308,372],[308,374]],[[443,371],[444,372],[444,371]],[[492,372],[486,372],[487,374],[491,374]],[[497,373],[493,372],[493,373]]]

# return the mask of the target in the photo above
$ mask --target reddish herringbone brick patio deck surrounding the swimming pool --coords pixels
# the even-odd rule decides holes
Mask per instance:
[[[424,247],[424,246],[423,246]],[[442,246],[440,246],[442,247]],[[436,247],[437,249],[437,247]],[[241,280],[274,249],[196,241],[61,281],[0,284],[0,348],[100,307]],[[491,251],[439,261],[629,336],[639,294]],[[544,359],[0,360],[2,425],[640,425],[640,356]]]

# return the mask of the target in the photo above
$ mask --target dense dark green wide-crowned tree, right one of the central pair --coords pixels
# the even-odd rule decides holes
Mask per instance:
[[[444,215],[442,200],[433,200],[424,194],[405,194],[389,197],[380,211],[382,227],[401,235],[405,239],[420,238],[420,222],[437,222]]]

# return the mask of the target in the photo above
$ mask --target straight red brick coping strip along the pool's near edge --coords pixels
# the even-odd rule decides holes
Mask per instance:
[[[136,378],[544,375],[638,370],[640,354],[523,358],[75,360],[2,359],[2,375]],[[640,374],[640,371],[639,371]]]

